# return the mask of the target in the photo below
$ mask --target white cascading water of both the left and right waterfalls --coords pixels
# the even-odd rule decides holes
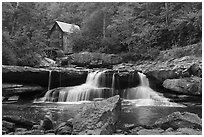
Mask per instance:
[[[126,100],[145,100],[150,99],[154,101],[167,102],[168,99],[159,95],[156,91],[149,87],[149,80],[143,73],[138,72],[140,84],[137,87],[128,88],[124,90],[126,95],[122,97]],[[115,73],[112,75],[112,81],[109,81],[108,76],[105,75],[105,71],[94,71],[90,72],[87,76],[86,82],[82,85],[65,87],[57,92],[49,90],[44,97],[44,101],[56,102],[56,96],[58,97],[57,102],[78,102],[78,101],[91,101],[96,98],[106,98],[111,97],[116,93],[115,82],[116,82]],[[129,77],[129,83],[134,85],[134,73]],[[110,88],[106,88],[107,83],[111,83]],[[50,88],[51,83],[51,71],[49,73],[49,83],[48,89]],[[152,102],[152,101],[148,101]],[[142,103],[143,104],[143,103]]]

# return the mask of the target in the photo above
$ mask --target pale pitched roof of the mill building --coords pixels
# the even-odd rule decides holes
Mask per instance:
[[[80,30],[80,27],[74,24],[68,24],[60,21],[56,21],[55,24],[57,24],[60,27],[60,29],[65,33],[73,33],[76,30]]]

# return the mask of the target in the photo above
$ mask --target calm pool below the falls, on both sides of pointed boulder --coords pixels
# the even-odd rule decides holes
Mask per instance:
[[[12,103],[2,105],[2,115],[21,116],[40,123],[44,115],[47,112],[51,112],[54,125],[58,125],[61,122],[73,118],[82,107],[83,103]],[[178,103],[161,103],[144,99],[135,101],[125,100],[122,102],[122,112],[119,117],[118,128],[122,127],[124,124],[151,125],[157,119],[175,111],[192,112],[202,117],[201,104],[184,106]]]

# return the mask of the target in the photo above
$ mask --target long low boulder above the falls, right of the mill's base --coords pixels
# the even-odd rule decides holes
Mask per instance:
[[[122,59],[115,54],[81,52],[71,54],[67,58],[64,58],[62,60],[62,64],[74,64],[89,68],[102,68],[119,64],[121,61]]]

